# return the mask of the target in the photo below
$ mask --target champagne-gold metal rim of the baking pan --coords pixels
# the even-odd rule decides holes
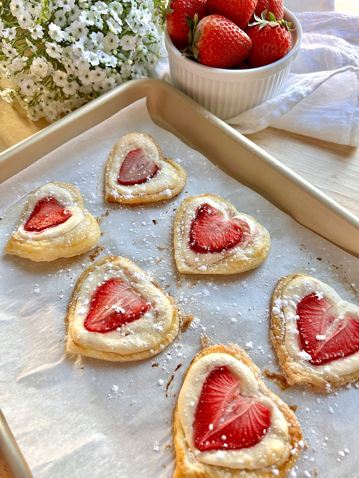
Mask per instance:
[[[357,217],[160,80],[129,82],[3,152],[0,181],[145,97],[149,114],[158,126],[175,134],[303,226],[359,257]],[[2,414],[0,422],[0,453],[15,478],[31,478],[31,471]]]

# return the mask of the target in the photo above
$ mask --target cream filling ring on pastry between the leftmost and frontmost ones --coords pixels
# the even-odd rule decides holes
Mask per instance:
[[[84,327],[90,302],[102,282],[119,278],[128,282],[151,307],[138,320],[111,332],[90,332]],[[121,355],[155,348],[166,336],[172,324],[173,311],[169,299],[148,281],[145,273],[125,274],[120,266],[107,262],[99,266],[83,280],[76,300],[71,336],[77,344],[114,352]]]

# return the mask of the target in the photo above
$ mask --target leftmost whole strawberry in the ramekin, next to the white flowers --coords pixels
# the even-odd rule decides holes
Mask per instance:
[[[181,42],[184,48],[188,45],[189,27],[186,22],[186,14],[191,18],[195,14],[201,20],[208,15],[206,0],[173,0],[168,4],[166,15],[167,31],[176,42]]]

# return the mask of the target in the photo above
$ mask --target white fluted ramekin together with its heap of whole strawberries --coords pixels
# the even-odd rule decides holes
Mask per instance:
[[[171,83],[222,120],[278,96],[302,43],[283,0],[172,0]]]

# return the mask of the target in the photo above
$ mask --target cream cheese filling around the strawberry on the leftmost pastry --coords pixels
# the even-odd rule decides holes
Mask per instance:
[[[41,232],[25,231],[24,225],[31,213],[34,211],[36,204],[46,197],[54,197],[62,206],[66,207],[67,211],[71,213],[71,217],[69,217],[67,221],[63,222],[62,224],[59,224],[54,228],[44,229]],[[64,234],[65,232],[68,232],[76,227],[84,218],[82,209],[74,202],[71,193],[63,187],[50,183],[36,189],[34,194],[29,197],[27,205],[27,211],[22,217],[22,223],[17,230],[23,239],[43,240],[56,238],[57,236],[60,236],[61,234]]]

